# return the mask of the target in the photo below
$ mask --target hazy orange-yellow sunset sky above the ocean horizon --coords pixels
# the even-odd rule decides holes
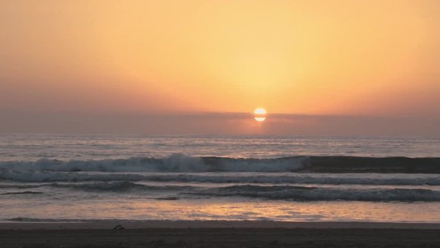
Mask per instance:
[[[217,132],[230,114],[265,107],[408,118],[439,134],[439,13],[437,0],[3,0],[0,132],[41,123],[40,114],[104,123],[124,114],[159,121],[229,113],[203,126]],[[53,130],[76,130],[68,123]],[[419,134],[423,127],[405,128]]]

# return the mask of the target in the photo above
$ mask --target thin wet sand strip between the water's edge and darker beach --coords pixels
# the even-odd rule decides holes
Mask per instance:
[[[440,223],[387,223],[356,221],[286,222],[272,220],[103,220],[103,221],[41,221],[0,222],[0,230],[73,230],[113,229],[432,229],[440,230]]]

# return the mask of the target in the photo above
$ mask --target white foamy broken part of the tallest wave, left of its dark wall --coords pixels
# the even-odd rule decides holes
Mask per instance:
[[[173,154],[166,158],[106,159],[102,161],[2,162],[0,169],[51,172],[289,172],[303,169],[305,157],[219,158]]]

